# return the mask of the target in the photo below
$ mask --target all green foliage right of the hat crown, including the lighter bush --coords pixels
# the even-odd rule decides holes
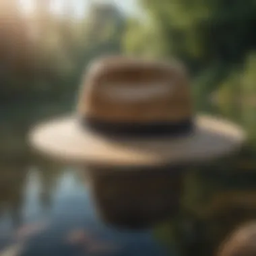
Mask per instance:
[[[245,112],[241,101],[253,102],[256,90],[255,55],[251,54],[256,48],[256,2],[139,3],[147,19],[129,24],[123,42],[125,52],[182,59],[191,70],[196,108],[212,111],[214,102],[224,114],[241,119],[241,112]]]

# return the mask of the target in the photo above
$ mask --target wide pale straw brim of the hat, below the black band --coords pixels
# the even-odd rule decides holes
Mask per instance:
[[[245,141],[241,127],[215,117],[195,117],[193,133],[183,137],[107,137],[83,127],[76,117],[38,125],[30,133],[40,152],[96,167],[160,167],[212,160],[238,150]]]

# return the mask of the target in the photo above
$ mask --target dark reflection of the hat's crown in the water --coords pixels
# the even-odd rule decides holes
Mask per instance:
[[[105,223],[128,229],[148,228],[179,212],[183,192],[180,169],[147,172],[90,172],[92,197]]]

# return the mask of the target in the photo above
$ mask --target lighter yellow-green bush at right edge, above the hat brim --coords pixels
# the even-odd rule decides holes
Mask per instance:
[[[216,101],[224,115],[244,125],[251,140],[256,139],[256,54],[249,53],[243,66],[230,69],[219,84]]]

